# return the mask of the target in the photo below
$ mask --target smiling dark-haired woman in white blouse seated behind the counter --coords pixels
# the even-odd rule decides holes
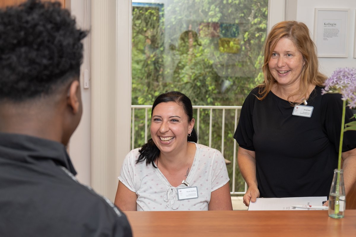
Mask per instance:
[[[164,93],[151,116],[152,139],[127,154],[115,204],[126,211],[232,210],[224,157],[196,143],[190,99]]]

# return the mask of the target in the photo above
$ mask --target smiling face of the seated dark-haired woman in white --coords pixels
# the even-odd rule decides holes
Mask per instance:
[[[151,137],[162,153],[187,149],[193,126],[194,119],[188,122],[183,107],[176,102],[159,103],[152,111]]]

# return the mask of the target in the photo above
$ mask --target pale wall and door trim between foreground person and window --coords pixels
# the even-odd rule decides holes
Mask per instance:
[[[80,75],[83,116],[69,141],[69,156],[79,181],[113,201],[130,151],[131,0],[72,0],[69,9],[78,27],[90,29]]]

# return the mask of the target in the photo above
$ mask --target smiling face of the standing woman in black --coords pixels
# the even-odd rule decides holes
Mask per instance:
[[[268,68],[279,86],[299,87],[304,64],[303,55],[293,42],[281,38],[272,50]]]

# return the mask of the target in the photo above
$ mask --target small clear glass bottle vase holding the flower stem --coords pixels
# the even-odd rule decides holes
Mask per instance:
[[[345,185],[344,171],[334,169],[333,182],[331,183],[329,195],[329,216],[332,218],[343,218],[345,215]]]

